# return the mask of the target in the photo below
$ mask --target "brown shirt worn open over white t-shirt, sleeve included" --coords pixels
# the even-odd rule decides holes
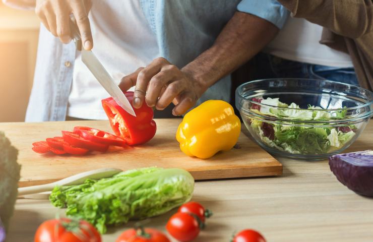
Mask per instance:
[[[278,0],[293,17],[324,27],[321,44],[350,54],[361,87],[373,90],[372,0]]]

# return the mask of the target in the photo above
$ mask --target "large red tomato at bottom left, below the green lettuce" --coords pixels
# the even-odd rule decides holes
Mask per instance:
[[[87,221],[51,219],[40,224],[34,242],[101,242],[101,235]]]

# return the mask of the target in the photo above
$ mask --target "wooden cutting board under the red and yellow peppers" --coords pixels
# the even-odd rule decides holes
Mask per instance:
[[[140,167],[178,167],[191,172],[197,180],[281,175],[282,164],[241,133],[238,147],[202,160],[189,157],[179,149],[175,133],[181,119],[155,119],[157,133],[148,143],[137,146],[111,147],[106,153],[86,156],[37,154],[32,143],[48,137],[61,136],[61,130],[88,126],[111,132],[108,121],[69,121],[46,123],[0,123],[12,144],[19,149],[22,165],[20,187],[59,180],[79,172],[112,167],[122,170]]]

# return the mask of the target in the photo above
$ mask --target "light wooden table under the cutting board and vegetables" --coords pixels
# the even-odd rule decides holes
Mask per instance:
[[[346,152],[372,149],[372,140],[370,122]],[[197,182],[193,200],[213,210],[214,216],[195,241],[229,241],[233,231],[243,228],[259,230],[268,242],[373,241],[373,199],[340,184],[327,160],[279,160],[284,165],[279,177]],[[18,200],[7,241],[33,241],[39,224],[58,212],[64,214],[48,201]],[[149,226],[165,230],[173,212],[153,218]],[[132,224],[110,229],[103,241],[115,241]]]

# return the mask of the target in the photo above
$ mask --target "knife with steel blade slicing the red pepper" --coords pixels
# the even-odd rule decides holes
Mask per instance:
[[[73,20],[70,20],[70,32],[75,45],[78,50],[82,51],[82,61],[91,71],[93,76],[101,84],[101,86],[112,96],[112,98],[128,113],[136,117],[136,113],[131,106],[130,101],[126,95],[115,84],[111,75],[106,71],[101,62],[97,59],[96,55],[91,50],[82,48],[82,40],[80,32]]]

